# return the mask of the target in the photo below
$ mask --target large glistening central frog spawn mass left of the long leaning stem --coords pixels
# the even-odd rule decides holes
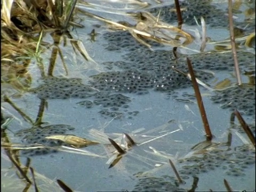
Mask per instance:
[[[138,54],[140,52],[140,54]],[[190,80],[172,69],[172,66],[182,69],[187,73],[185,63],[176,65],[171,60],[170,51],[156,50],[154,52],[146,49],[137,50],[123,55],[127,62],[102,63],[108,69],[118,67],[124,71],[106,72],[94,76],[95,82],[91,82],[95,89],[110,89],[121,92],[132,92],[138,94],[147,93],[149,89],[156,91],[172,91],[191,85]],[[185,71],[183,70],[185,69]],[[202,70],[196,70],[197,78],[208,81],[212,74]]]

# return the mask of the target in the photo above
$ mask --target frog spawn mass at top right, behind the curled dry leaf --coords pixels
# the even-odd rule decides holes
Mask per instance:
[[[219,2],[222,4],[226,4],[227,2]],[[190,26],[196,26],[196,20],[200,23],[200,18],[203,17],[206,25],[210,27],[228,27],[228,10],[220,9],[223,5],[214,5],[210,0],[185,0],[180,1],[180,9],[183,23]],[[247,3],[247,6],[250,6],[251,9],[254,9],[255,12],[255,1],[251,1],[251,3]],[[153,9],[147,10],[150,13],[154,14],[155,17],[160,13],[160,19],[166,23],[175,23],[178,21],[177,12],[175,5],[168,5],[157,7]],[[239,11],[238,11],[239,13]],[[233,12],[235,14],[235,12]],[[235,14],[236,15],[236,14]],[[196,20],[195,20],[196,19]],[[255,30],[255,20],[254,21],[244,21],[237,22],[234,19],[234,26],[240,29],[243,29],[246,34],[250,34]]]

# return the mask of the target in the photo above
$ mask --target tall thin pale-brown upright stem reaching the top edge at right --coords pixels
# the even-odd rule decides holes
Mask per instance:
[[[237,54],[236,54],[236,42],[235,42],[233,14],[232,14],[232,0],[228,0],[228,18],[229,18],[230,41],[231,41],[231,47],[232,47],[235,70],[236,70],[236,79],[237,79],[238,85],[241,85],[242,80],[240,76],[239,65],[238,65]]]

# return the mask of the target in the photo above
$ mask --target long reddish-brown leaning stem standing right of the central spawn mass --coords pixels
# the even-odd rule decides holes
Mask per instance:
[[[194,87],[195,94],[196,94],[197,105],[198,105],[198,108],[200,110],[202,121],[203,121],[203,124],[204,124],[206,139],[207,140],[212,140],[212,133],[211,133],[211,129],[210,129],[210,126],[209,126],[209,123],[208,123],[208,120],[207,120],[206,113],[205,113],[204,103],[203,103],[202,96],[201,96],[198,84],[196,82],[196,77],[195,77],[195,74],[194,74],[194,70],[193,70],[193,67],[191,65],[191,62],[190,62],[189,58],[187,58],[187,63],[188,63],[189,73],[191,75],[191,81],[193,83],[193,87]]]

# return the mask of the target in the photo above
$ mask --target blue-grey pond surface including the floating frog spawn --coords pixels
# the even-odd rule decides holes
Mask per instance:
[[[137,23],[137,19],[128,15],[130,12],[147,11],[156,17],[161,10],[160,19],[177,26],[175,14],[168,12],[173,9],[174,1],[158,4],[152,0],[146,7],[134,2],[88,1],[94,6],[79,7],[130,25]],[[85,27],[71,30],[71,34],[83,43],[91,60],[86,61],[79,53],[75,54],[70,41],[65,46],[60,43],[68,75],[57,57],[53,77],[42,77],[47,74],[51,57],[51,50],[46,50],[41,55],[43,70],[36,65],[35,58],[31,58],[34,65],[29,66],[32,78],[29,91],[18,92],[8,85],[2,86],[2,95],[7,95],[17,107],[15,109],[6,100],[2,102],[4,117],[14,117],[6,130],[11,142],[27,146],[39,143],[48,147],[47,150],[20,150],[22,164],[26,164],[27,157],[31,159],[30,166],[36,172],[35,179],[41,191],[61,191],[57,179],[75,191],[189,190],[195,177],[199,179],[196,191],[226,190],[223,179],[233,190],[255,189],[255,148],[241,131],[238,121],[235,125],[230,123],[230,115],[237,108],[255,135],[255,83],[250,81],[254,79],[255,82],[254,49],[239,44],[237,54],[244,85],[238,87],[228,44],[216,43],[229,39],[228,27],[225,27],[228,26],[227,3],[180,2],[181,7],[187,9],[183,13],[182,29],[194,40],[187,48],[178,47],[176,61],[172,60],[173,46],[146,41],[153,44],[150,51],[127,31],[110,30],[105,22],[79,13],[77,17]],[[235,20],[236,26],[246,26],[244,19],[250,16],[244,14],[247,9],[254,9],[255,16],[255,2],[244,1],[238,6],[234,14],[239,18]],[[191,18],[195,16],[199,21],[201,15],[206,19],[206,35],[210,39],[205,52],[212,53],[199,53],[202,40],[198,35],[202,29]],[[251,25],[249,23],[244,29],[244,35],[255,33]],[[97,34],[95,41],[90,35],[93,29]],[[173,32],[168,35],[173,34],[175,37]],[[47,34],[43,41],[52,43],[52,38]],[[214,52],[217,44],[221,44],[223,50],[226,47],[227,52]],[[191,82],[172,69],[174,66],[188,73],[187,56],[197,77],[211,87],[199,86],[214,135],[212,142],[205,141]],[[251,71],[252,75],[245,75],[245,71]],[[212,91],[225,79],[229,81],[228,91]],[[221,87],[224,88],[227,86]],[[43,111],[42,124],[33,125],[38,120],[38,111]],[[109,169],[109,158],[114,160],[115,154],[108,151],[108,137],[121,144],[123,133],[129,134],[137,146],[127,149],[121,160]],[[44,139],[52,134],[72,134],[100,143],[81,148],[85,151],[79,154],[71,153],[70,149],[55,151],[49,147],[63,143]],[[232,142],[228,145],[230,134]],[[5,176],[2,182],[6,183],[1,189],[13,191],[10,183],[13,178],[17,180],[15,169],[7,171],[11,164],[3,148],[1,151],[2,176]],[[178,183],[175,179],[169,159],[185,182]],[[18,182],[22,190],[23,183]],[[33,190],[31,187],[30,191]]]

